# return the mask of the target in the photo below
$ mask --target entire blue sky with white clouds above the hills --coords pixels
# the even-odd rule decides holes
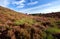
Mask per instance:
[[[48,13],[60,11],[60,0],[0,0],[0,6],[22,13]]]

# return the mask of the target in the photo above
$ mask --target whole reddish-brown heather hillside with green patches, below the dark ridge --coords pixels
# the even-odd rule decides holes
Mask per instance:
[[[60,39],[60,18],[30,16],[0,6],[0,39]]]

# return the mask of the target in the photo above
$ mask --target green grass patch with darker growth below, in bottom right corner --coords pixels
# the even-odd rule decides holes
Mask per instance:
[[[46,31],[44,31],[43,39],[54,39],[52,34],[60,33],[60,29],[55,27],[49,27]],[[57,38],[56,38],[57,39]]]

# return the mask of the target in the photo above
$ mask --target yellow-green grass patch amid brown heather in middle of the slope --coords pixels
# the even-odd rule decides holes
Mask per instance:
[[[21,24],[27,23],[27,24],[29,24],[29,25],[32,25],[32,24],[34,24],[35,22],[36,22],[35,20],[30,19],[30,18],[22,18],[22,19],[20,19],[20,20],[16,20],[16,21],[14,22],[14,24],[15,24],[15,25],[21,25]]]

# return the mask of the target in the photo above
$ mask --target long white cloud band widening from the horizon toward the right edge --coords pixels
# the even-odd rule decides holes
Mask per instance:
[[[20,11],[20,10],[19,10]],[[21,10],[21,12],[26,13],[48,13],[48,12],[57,12],[60,11],[60,0],[50,2],[48,4],[39,5],[36,7],[28,8],[25,10]]]

